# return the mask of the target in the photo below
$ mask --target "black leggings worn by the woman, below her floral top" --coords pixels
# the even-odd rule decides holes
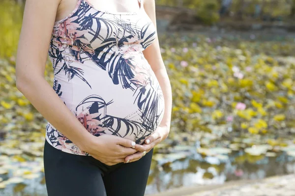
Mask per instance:
[[[44,145],[48,196],[144,196],[151,149],[131,163],[108,166],[92,156],[75,155]]]

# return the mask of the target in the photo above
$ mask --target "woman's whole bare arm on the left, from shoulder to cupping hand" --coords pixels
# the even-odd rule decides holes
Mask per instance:
[[[59,1],[26,0],[17,50],[16,86],[49,123],[81,150],[105,163],[124,161],[126,155],[136,152],[131,148],[132,141],[113,135],[90,134],[44,78]],[[119,148],[120,145],[124,147]]]

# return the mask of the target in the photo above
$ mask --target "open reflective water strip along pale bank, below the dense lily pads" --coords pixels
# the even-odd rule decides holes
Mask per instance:
[[[158,161],[161,162],[161,160]],[[243,152],[234,152],[227,160],[204,157],[193,152],[186,158],[173,162],[168,161],[161,165],[157,163],[153,160],[151,164],[147,195],[181,186],[223,184],[226,181],[239,179],[262,179],[295,171],[295,159],[285,152],[277,153],[275,157],[251,156]],[[9,175],[1,174],[0,177],[5,180]],[[47,196],[44,174],[41,173],[36,179],[25,179],[22,183],[7,185],[0,190],[0,196]]]

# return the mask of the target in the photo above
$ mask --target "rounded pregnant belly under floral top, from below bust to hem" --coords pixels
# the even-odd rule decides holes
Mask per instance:
[[[88,64],[83,67],[83,77],[68,80],[57,75],[56,91],[91,134],[112,134],[142,144],[164,115],[163,93],[148,66],[143,63],[141,67],[133,67],[132,77],[126,79],[126,75],[116,73],[118,78],[115,78],[115,74]],[[79,152],[71,141],[49,125],[47,138],[51,143],[58,142],[72,153]]]

